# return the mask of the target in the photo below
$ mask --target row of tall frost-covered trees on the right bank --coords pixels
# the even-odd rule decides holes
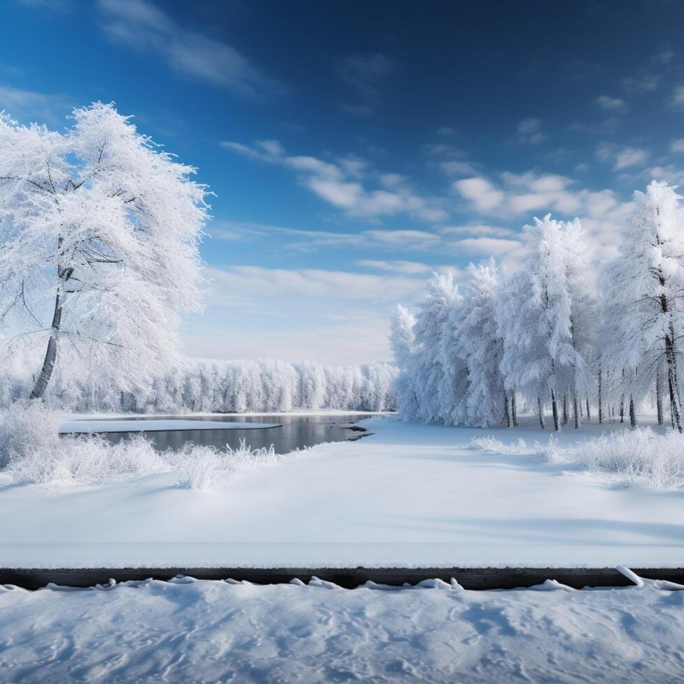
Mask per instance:
[[[682,431],[684,231],[674,188],[634,193],[616,257],[596,265],[579,219],[535,218],[526,255],[507,272],[468,267],[460,287],[436,274],[416,315],[399,306],[390,343],[406,419],[516,426],[521,403],[553,429],[607,416]]]

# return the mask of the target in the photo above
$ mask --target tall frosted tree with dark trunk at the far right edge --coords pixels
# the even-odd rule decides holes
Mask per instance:
[[[652,181],[634,193],[618,256],[607,271],[610,283],[604,318],[614,330],[610,350],[620,369],[623,412],[653,388],[660,406],[669,398],[672,426],[682,431],[678,356],[684,334],[684,234],[679,196],[664,182]],[[664,387],[663,387],[664,385]],[[662,409],[659,411],[662,419]]]

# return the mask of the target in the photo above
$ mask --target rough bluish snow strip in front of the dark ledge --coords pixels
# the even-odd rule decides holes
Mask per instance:
[[[0,678],[674,683],[683,609],[683,591],[648,580],[581,591],[189,579],[0,588]]]

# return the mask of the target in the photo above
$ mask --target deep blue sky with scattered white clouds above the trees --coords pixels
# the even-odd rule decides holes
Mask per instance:
[[[684,3],[0,0],[0,109],[115,101],[216,193],[186,350],[389,359],[433,270],[514,268],[535,215],[611,255],[684,177]]]

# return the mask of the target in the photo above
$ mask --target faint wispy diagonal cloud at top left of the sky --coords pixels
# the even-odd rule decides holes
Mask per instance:
[[[98,0],[98,8],[107,36],[134,50],[155,52],[181,76],[244,97],[283,91],[234,47],[182,27],[147,0]]]

